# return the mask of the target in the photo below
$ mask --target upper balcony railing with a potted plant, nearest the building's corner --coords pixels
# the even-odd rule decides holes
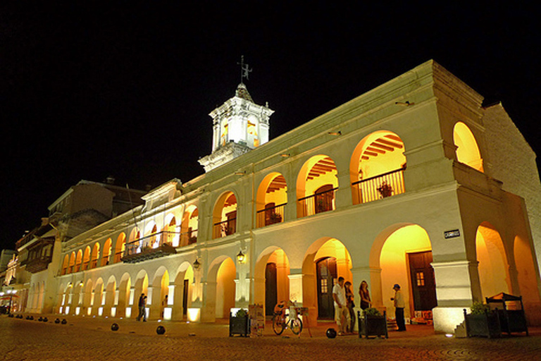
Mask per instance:
[[[359,202],[368,203],[404,193],[404,168],[352,183],[359,191]]]

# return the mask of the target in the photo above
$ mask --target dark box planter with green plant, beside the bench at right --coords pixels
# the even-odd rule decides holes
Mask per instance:
[[[473,302],[470,314],[466,314],[466,309],[464,309],[464,320],[468,337],[492,338],[502,336],[498,313],[492,312],[490,307],[483,304],[483,302]]]

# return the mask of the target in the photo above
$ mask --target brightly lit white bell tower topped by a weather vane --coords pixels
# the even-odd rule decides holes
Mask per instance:
[[[235,96],[209,114],[213,119],[212,153],[199,159],[206,172],[268,142],[268,119],[274,111],[254,103],[242,82],[251,71],[244,59],[241,69]]]

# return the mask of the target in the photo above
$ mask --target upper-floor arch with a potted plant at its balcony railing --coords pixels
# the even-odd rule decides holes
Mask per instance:
[[[353,204],[404,192],[404,142],[389,130],[373,132],[356,145],[349,162]]]

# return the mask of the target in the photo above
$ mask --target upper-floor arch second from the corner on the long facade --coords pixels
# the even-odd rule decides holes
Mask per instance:
[[[337,188],[335,161],[325,154],[310,157],[297,175],[297,217],[335,209]]]

